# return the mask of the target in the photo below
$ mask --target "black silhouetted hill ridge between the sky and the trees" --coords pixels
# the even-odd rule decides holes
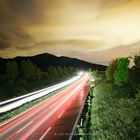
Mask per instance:
[[[11,59],[4,59],[0,58],[0,69],[2,70],[5,63],[8,61],[16,61],[19,63],[21,60],[31,60],[33,63],[38,65],[41,69],[47,69],[48,66],[73,66],[77,67],[81,70],[87,70],[89,68],[98,69],[98,70],[105,70],[106,66],[99,65],[99,64],[92,64],[86,61],[82,61],[76,58],[69,58],[69,57],[57,57],[48,53],[39,54],[31,57],[15,57]]]

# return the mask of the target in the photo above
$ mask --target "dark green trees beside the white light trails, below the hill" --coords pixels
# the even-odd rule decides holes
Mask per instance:
[[[59,66],[44,70],[30,60],[9,61],[0,71],[0,101],[56,84],[77,71],[74,67]]]

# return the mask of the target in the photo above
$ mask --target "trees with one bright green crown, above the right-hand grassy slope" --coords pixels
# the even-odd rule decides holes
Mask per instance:
[[[130,61],[134,65],[130,68]],[[133,57],[123,57],[112,60],[105,72],[107,81],[118,86],[129,86],[137,91],[140,86],[140,53]]]

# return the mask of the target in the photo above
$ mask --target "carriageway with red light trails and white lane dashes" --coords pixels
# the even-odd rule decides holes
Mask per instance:
[[[0,126],[0,140],[68,140],[87,96],[89,76]]]

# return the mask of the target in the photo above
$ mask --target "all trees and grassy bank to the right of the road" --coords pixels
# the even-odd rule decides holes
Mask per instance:
[[[84,123],[77,128],[80,139],[140,139],[140,53],[132,68],[130,60],[113,60],[106,77],[89,94]]]

